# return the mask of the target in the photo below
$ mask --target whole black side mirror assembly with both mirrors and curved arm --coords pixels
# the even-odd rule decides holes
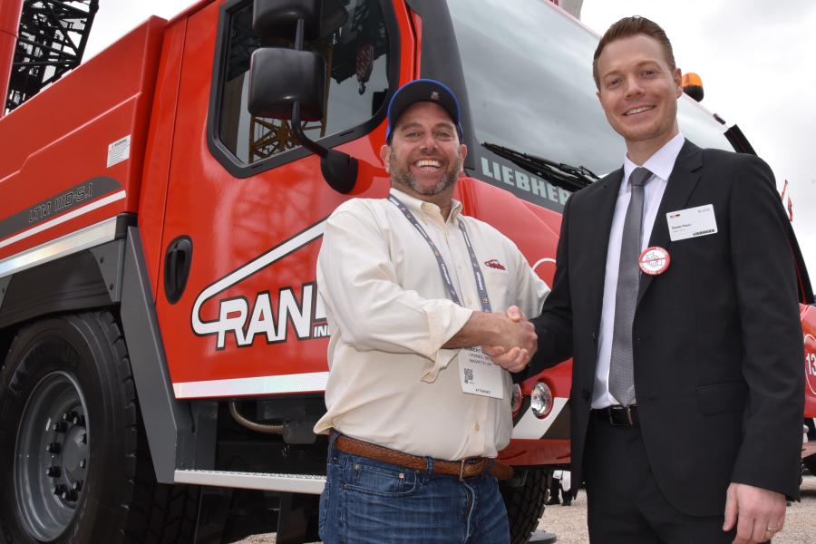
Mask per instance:
[[[323,119],[326,73],[325,60],[304,51],[306,28],[319,34],[324,2],[334,0],[256,0],[252,28],[261,39],[274,37],[295,24],[295,48],[260,47],[249,62],[249,112],[257,117],[290,121],[292,134],[307,150],[320,157],[326,183],[337,192],[349,193],[357,180],[357,160],[341,151],[312,141],[301,126],[303,121]],[[341,6],[342,9],[342,6]],[[342,16],[331,12],[333,22]],[[337,12],[347,13],[345,9]],[[334,23],[333,23],[334,24]],[[342,24],[342,22],[341,22]]]

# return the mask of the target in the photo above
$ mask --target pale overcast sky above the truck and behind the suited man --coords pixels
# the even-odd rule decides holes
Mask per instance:
[[[100,0],[86,58],[149,15],[170,18],[193,3]],[[793,227],[816,283],[816,1],[584,0],[581,10],[599,34],[627,15],[664,27],[678,67],[703,78],[704,106],[742,128],[780,189],[790,182]]]

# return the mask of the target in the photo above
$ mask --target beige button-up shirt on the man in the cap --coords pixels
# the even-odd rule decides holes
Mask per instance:
[[[459,460],[495,457],[510,442],[510,374],[502,400],[462,393],[459,350],[444,345],[481,310],[461,221],[492,310],[539,314],[549,288],[509,238],[397,189],[442,253],[461,299],[450,300],[432,249],[387,199],[352,199],[326,222],[317,288],[331,333],[327,412],[315,432],[339,432],[401,452]],[[485,263],[490,262],[491,265]]]

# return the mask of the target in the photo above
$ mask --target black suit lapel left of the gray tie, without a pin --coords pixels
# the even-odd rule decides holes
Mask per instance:
[[[609,248],[609,231],[612,229],[612,215],[615,213],[617,192],[623,180],[623,169],[611,172],[603,180],[597,181],[601,187],[594,191],[587,202],[585,222],[586,232],[591,233],[586,251],[592,266],[587,270],[587,283],[591,312],[595,318],[595,330],[600,326],[601,307],[604,297],[604,278],[607,273],[607,250]]]

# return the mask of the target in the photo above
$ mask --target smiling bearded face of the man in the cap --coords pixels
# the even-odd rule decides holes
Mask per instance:
[[[451,116],[433,102],[417,102],[406,109],[391,145],[381,150],[394,186],[420,199],[445,191],[452,194],[466,153]]]

